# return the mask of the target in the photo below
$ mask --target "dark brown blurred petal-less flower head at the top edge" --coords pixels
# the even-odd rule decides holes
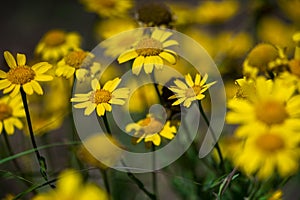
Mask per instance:
[[[137,8],[136,15],[142,27],[169,27],[173,21],[170,8],[163,2],[145,1]]]

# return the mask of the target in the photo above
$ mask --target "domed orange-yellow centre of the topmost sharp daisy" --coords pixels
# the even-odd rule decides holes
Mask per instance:
[[[162,52],[163,46],[160,41],[153,38],[142,39],[137,47],[136,52],[140,56],[157,56]]]

